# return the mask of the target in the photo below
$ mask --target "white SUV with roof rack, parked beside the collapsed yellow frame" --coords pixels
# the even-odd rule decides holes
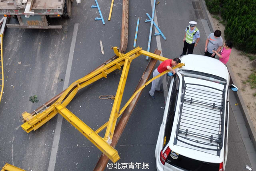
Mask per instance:
[[[186,55],[172,77],[156,143],[158,171],[224,171],[228,153],[228,69],[214,58]]]

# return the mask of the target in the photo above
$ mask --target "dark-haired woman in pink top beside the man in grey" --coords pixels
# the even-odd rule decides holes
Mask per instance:
[[[220,58],[220,61],[223,64],[227,64],[229,56],[231,54],[232,47],[233,47],[233,43],[231,41],[227,40],[223,44],[223,48],[222,48],[220,54],[218,52],[216,52],[215,50],[213,50],[212,52],[216,53],[216,55]]]

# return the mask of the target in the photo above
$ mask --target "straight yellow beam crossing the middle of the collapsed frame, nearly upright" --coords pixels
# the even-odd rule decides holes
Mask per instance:
[[[130,61],[130,57],[128,56],[128,57],[126,57],[125,62],[124,62],[124,68],[123,68],[122,75],[121,75],[121,78],[119,81],[119,85],[118,85],[118,88],[116,91],[116,97],[115,97],[115,100],[113,103],[112,111],[110,113],[109,122],[108,122],[108,126],[106,129],[105,137],[104,137],[104,140],[108,141],[108,143],[111,143],[112,137],[114,135],[114,130],[116,127],[116,120],[114,120],[114,118],[117,117],[119,109],[120,109],[130,64],[131,64],[131,61]]]

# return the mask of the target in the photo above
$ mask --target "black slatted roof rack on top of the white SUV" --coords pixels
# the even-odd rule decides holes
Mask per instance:
[[[215,150],[220,156],[224,132],[225,89],[186,83],[182,91],[174,144],[178,140],[194,147]]]

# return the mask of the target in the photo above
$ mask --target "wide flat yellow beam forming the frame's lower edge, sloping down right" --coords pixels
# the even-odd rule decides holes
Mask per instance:
[[[118,152],[111,147],[100,135],[95,133],[88,125],[81,121],[76,115],[69,111],[66,107],[59,104],[56,105],[57,111],[80,131],[87,139],[89,139],[102,153],[104,153],[112,162],[120,159]]]

